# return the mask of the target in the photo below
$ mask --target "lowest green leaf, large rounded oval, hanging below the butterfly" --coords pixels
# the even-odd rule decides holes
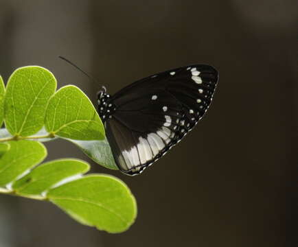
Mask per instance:
[[[78,222],[109,233],[126,231],[137,215],[128,187],[104,174],[84,176],[51,189],[47,197]]]

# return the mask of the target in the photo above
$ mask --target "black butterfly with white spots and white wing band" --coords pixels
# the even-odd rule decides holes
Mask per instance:
[[[98,113],[119,169],[140,174],[194,128],[209,107],[218,72],[196,64],[150,75],[111,96]]]

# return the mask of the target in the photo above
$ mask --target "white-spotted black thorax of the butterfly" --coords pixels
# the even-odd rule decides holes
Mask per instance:
[[[115,104],[111,102],[111,95],[101,92],[98,94],[98,114],[102,121],[111,118],[116,110]]]

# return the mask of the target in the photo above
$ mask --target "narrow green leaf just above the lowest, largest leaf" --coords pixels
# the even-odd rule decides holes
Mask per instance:
[[[89,164],[75,159],[61,159],[39,165],[29,174],[16,180],[12,189],[21,195],[41,195],[65,178],[84,174]]]

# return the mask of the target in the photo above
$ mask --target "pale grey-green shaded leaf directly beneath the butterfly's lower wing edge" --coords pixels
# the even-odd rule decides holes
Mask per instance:
[[[106,139],[102,141],[68,140],[78,145],[82,152],[87,154],[89,158],[103,167],[108,169],[119,169],[114,161],[110,145]]]

